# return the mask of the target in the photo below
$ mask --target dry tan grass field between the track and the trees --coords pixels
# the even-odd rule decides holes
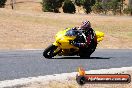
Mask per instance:
[[[132,18],[85,14],[25,12],[0,9],[0,49],[42,49],[54,42],[66,27],[90,20],[105,33],[98,48],[132,48]]]

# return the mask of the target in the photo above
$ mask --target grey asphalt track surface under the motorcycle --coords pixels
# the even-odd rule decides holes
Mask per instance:
[[[97,49],[91,58],[78,56],[46,59],[43,50],[0,51],[0,81],[76,72],[85,70],[132,66],[132,49]]]

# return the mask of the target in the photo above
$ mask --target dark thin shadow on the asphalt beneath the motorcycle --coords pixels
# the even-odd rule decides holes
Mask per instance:
[[[69,57],[69,56],[65,56],[65,57],[55,57],[55,58],[52,58],[52,59],[110,59],[112,57]]]

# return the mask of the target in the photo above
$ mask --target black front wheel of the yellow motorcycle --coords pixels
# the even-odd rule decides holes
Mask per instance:
[[[43,52],[43,56],[45,57],[45,58],[52,58],[52,57],[54,57],[55,56],[55,54],[54,54],[54,51],[57,49],[57,46],[55,46],[55,45],[50,45],[50,46],[48,46],[45,50],[44,50],[44,52]]]

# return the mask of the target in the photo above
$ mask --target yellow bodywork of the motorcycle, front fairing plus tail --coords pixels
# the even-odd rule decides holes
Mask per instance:
[[[68,30],[70,30],[70,28],[58,32],[55,36],[56,41],[53,43],[53,45],[59,46],[60,49],[71,49],[71,48],[78,49],[77,47],[69,43],[69,41],[74,40],[76,36],[66,36],[65,34]],[[104,33],[100,31],[95,31],[95,33],[97,36],[97,42],[102,41],[104,37]]]

